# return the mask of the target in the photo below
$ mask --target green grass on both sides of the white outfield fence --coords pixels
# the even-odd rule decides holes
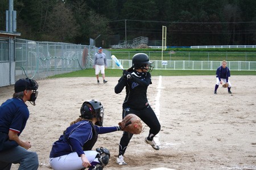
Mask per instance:
[[[161,60],[161,49],[107,49],[118,59],[131,59],[136,53],[146,53],[150,60]],[[256,61],[256,49],[191,49],[168,48],[163,53],[167,61]],[[123,65],[125,67],[125,65]],[[217,69],[217,67],[216,67]],[[121,76],[119,69],[106,69],[106,77]],[[153,70],[152,76],[183,76],[183,75],[215,75],[216,70]],[[231,75],[256,75],[256,71],[231,71]],[[73,71],[71,73],[54,75],[49,78],[95,76],[94,69]]]

